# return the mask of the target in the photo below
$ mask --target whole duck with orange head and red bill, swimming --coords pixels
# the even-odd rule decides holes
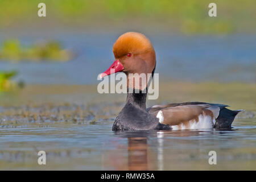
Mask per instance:
[[[126,32],[114,43],[113,53],[114,63],[100,73],[100,77],[123,72],[127,77],[127,91],[133,91],[127,92],[126,104],[115,118],[113,131],[230,129],[234,118],[242,111],[227,109],[228,105],[224,104],[199,101],[147,108],[150,79],[143,84],[136,78],[141,73],[154,76],[156,54],[152,43],[139,32]]]

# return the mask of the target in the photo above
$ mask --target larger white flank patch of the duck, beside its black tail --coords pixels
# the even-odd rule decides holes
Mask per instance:
[[[160,121],[160,119],[159,119]],[[172,126],[172,130],[184,130],[184,129],[212,129],[215,124],[215,119],[212,119],[209,115],[199,115],[199,121],[196,122],[194,119],[189,121],[189,126],[180,125]]]

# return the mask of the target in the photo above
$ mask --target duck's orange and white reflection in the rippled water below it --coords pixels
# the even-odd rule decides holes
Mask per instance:
[[[203,161],[209,152],[204,146],[219,146],[221,140],[214,138],[230,131],[233,130],[118,131],[114,134],[127,139],[127,145],[122,144],[122,150],[112,153],[115,162],[110,163],[117,170],[191,169],[188,161]]]

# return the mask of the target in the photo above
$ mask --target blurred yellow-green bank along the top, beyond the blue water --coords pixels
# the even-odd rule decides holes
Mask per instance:
[[[39,19],[38,3],[47,6]],[[208,5],[217,4],[217,17],[208,16]],[[1,0],[0,26],[85,27],[105,31],[136,27],[185,34],[255,32],[256,2],[253,0]]]

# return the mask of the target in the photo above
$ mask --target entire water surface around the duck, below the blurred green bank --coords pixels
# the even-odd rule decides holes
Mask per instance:
[[[115,133],[125,95],[84,84],[97,84],[112,63],[118,34],[17,35],[24,44],[59,40],[77,56],[67,63],[0,61],[1,71],[18,70],[14,80],[26,84],[0,93],[0,169],[256,169],[255,35],[149,35],[160,88],[147,105],[203,101],[245,109],[232,130]],[[9,38],[5,32],[0,42]],[[40,150],[45,166],[37,163]],[[217,165],[208,163],[212,150]]]

